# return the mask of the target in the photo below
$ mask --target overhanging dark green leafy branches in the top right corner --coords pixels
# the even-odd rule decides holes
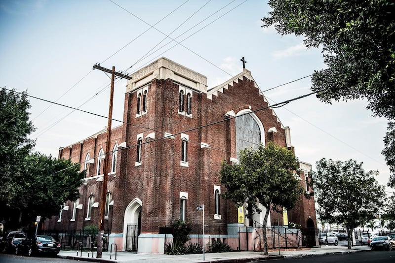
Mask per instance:
[[[317,98],[326,103],[367,99],[374,116],[395,119],[394,1],[270,0],[269,5],[263,27],[304,36],[307,47],[322,48],[326,67],[312,77]],[[389,139],[384,155],[394,186],[394,135]]]

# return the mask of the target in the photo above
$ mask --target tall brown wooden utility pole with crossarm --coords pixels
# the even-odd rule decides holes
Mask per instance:
[[[106,143],[106,155],[104,158],[104,167],[103,167],[103,185],[102,185],[102,193],[100,198],[100,218],[99,218],[99,236],[97,239],[97,253],[96,258],[102,258],[102,251],[103,251],[103,239],[104,239],[104,213],[106,210],[106,195],[107,195],[107,182],[108,182],[108,173],[110,171],[110,164],[111,164],[111,123],[113,119],[113,100],[114,100],[114,80],[115,76],[125,79],[132,79],[127,74],[122,74],[122,72],[115,72],[115,66],[113,69],[108,69],[105,67],[100,66],[100,64],[95,64],[93,69],[99,69],[107,73],[111,73],[111,90],[110,90],[110,105],[108,109],[108,123],[107,123],[107,143]],[[100,162],[100,159],[97,159]]]

